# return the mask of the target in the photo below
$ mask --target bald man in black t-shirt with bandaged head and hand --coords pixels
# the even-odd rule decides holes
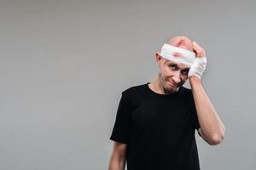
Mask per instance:
[[[123,91],[110,139],[109,170],[199,170],[195,129],[208,144],[225,127],[201,84],[205,51],[188,37],[169,39],[156,53],[153,82]],[[183,84],[189,80],[191,89]]]

